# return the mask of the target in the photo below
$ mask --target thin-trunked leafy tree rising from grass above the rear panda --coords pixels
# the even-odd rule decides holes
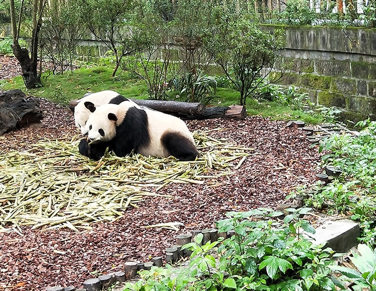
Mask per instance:
[[[80,3],[81,16],[89,30],[115,55],[114,77],[123,56],[131,54],[134,48],[126,30],[134,8],[132,0],[81,0]]]

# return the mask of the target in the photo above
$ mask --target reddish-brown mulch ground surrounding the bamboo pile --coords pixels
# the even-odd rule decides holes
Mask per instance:
[[[0,67],[0,72],[2,67]],[[0,154],[24,150],[48,137],[78,133],[71,112],[40,100],[44,127],[28,127],[0,136]],[[193,130],[212,131],[214,138],[254,148],[239,169],[202,185],[168,184],[159,190],[173,198],[150,198],[139,208],[124,212],[114,223],[92,224],[82,233],[70,229],[52,231],[21,227],[22,234],[0,233],[0,289],[43,290],[60,284],[81,283],[101,273],[121,270],[122,263],[164,257],[164,249],[175,244],[175,236],[192,229],[213,227],[228,211],[273,207],[296,186],[314,181],[319,155],[316,147],[297,130],[281,121],[259,116],[245,120],[211,119],[188,121]],[[180,222],[180,231],[141,226]]]

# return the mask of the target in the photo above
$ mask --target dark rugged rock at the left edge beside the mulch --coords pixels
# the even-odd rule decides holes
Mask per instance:
[[[42,118],[37,99],[27,98],[18,89],[0,93],[0,135],[31,123],[40,123]]]

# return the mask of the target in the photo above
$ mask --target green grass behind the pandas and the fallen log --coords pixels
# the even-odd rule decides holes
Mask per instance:
[[[58,104],[66,105],[69,101],[81,98],[87,92],[115,90],[125,97],[149,98],[146,84],[140,79],[131,78],[129,73],[120,71],[112,77],[113,68],[105,63],[80,67],[73,72],[53,75],[45,72],[42,75],[42,88],[27,90],[22,77],[0,81],[1,90],[21,89],[26,94],[45,98]],[[211,106],[230,106],[238,104],[239,92],[233,89],[218,88],[216,97],[209,103]],[[324,118],[300,110],[292,110],[277,102],[258,102],[254,98],[247,99],[249,115],[261,115],[274,120],[301,119],[307,124],[318,124]]]

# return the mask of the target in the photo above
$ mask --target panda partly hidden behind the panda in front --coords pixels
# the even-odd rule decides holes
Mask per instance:
[[[86,122],[89,119],[91,112],[86,108],[85,102],[91,102],[95,106],[100,106],[103,104],[119,104],[123,101],[130,101],[129,99],[121,96],[118,92],[112,90],[104,90],[89,94],[83,98],[77,100],[77,105],[70,106],[71,111],[74,114],[74,123],[77,128],[81,130],[82,134],[87,134],[88,129],[86,127]],[[130,101],[134,106],[138,106],[135,102]]]

